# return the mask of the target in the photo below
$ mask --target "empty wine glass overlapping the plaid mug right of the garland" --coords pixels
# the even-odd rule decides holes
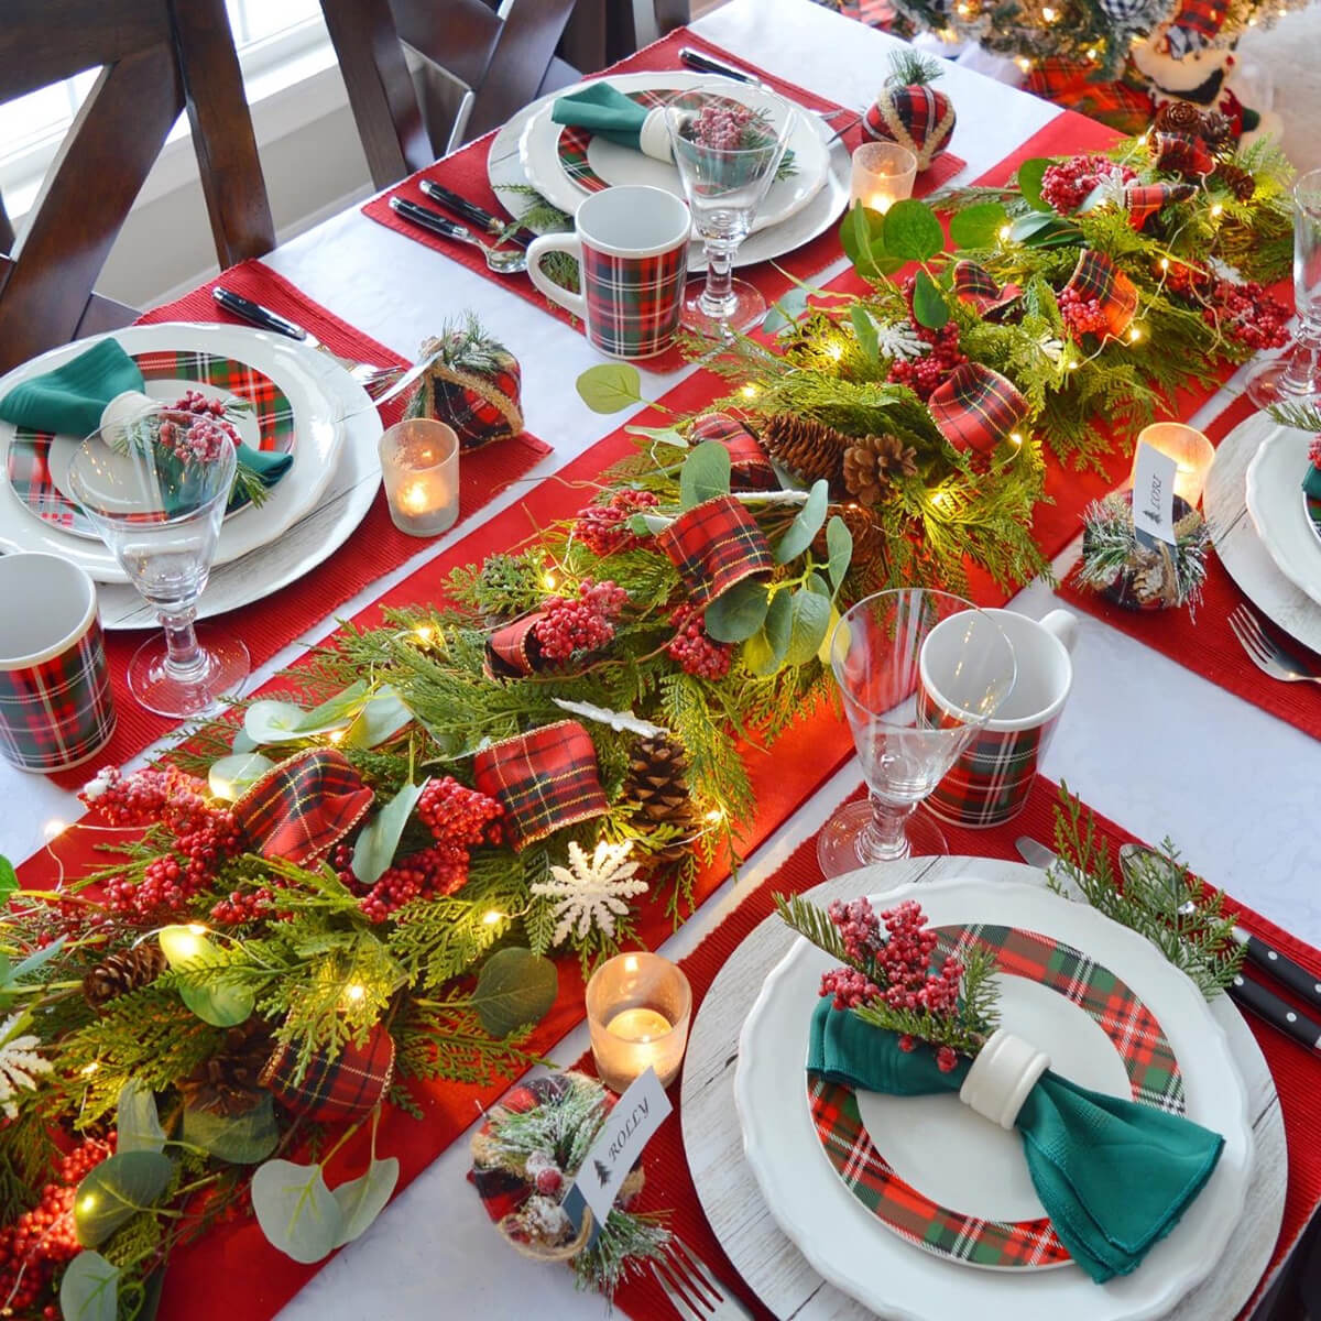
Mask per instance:
[[[917,807],[1013,688],[1009,639],[960,597],[902,588],[841,616],[830,658],[869,795],[826,823],[816,840],[822,871],[843,876],[947,853],[941,828]]]

